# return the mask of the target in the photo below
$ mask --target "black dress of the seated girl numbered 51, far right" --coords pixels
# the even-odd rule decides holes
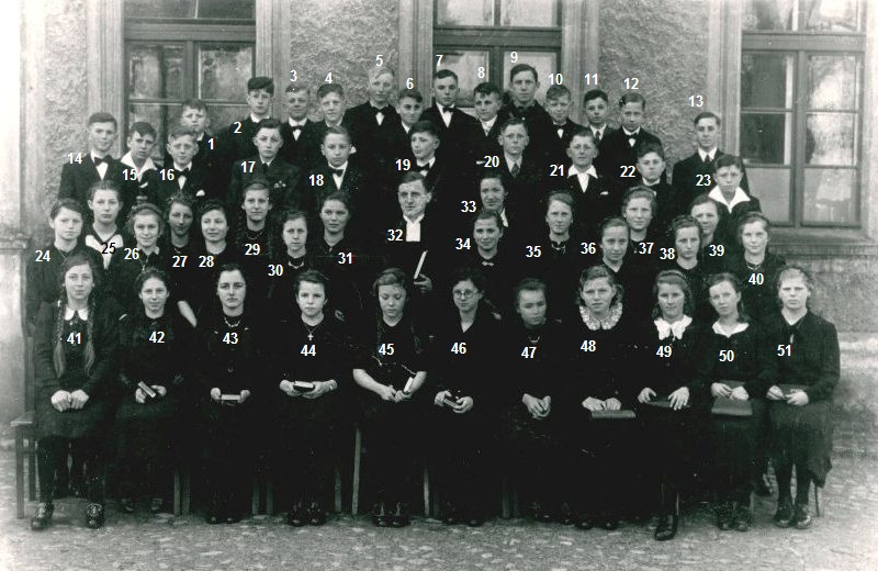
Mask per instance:
[[[777,314],[765,322],[767,344],[776,356],[777,381],[804,385],[808,404],[769,404],[772,458],[775,467],[807,468],[822,486],[832,468],[832,392],[838,383],[838,334],[835,326],[810,311],[793,324]],[[797,468],[801,470],[801,468]]]

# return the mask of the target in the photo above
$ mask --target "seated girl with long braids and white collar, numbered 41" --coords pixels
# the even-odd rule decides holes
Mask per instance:
[[[98,267],[86,253],[61,264],[60,299],[44,303],[34,333],[40,504],[31,529],[52,520],[55,469],[76,443],[89,467],[86,525],[103,525],[103,447],[117,371],[119,309],[94,294]]]

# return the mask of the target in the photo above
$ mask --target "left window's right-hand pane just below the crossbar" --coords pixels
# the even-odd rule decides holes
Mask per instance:
[[[199,46],[201,99],[240,101],[254,74],[254,47],[241,45]]]

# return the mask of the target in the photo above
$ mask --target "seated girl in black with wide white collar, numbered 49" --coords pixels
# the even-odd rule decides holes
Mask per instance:
[[[697,228],[696,228],[697,229]],[[655,278],[649,363],[638,395],[638,418],[646,438],[645,469],[658,496],[658,526],[653,537],[673,539],[679,520],[679,493],[691,473],[693,452],[702,432],[707,393],[693,384],[698,328],[693,322],[693,292],[686,277],[664,270]]]

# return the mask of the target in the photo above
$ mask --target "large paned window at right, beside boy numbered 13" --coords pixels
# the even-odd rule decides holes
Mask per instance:
[[[864,7],[744,1],[741,155],[778,225],[860,225]]]

